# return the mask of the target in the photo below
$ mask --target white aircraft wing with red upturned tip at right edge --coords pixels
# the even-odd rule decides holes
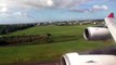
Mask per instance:
[[[111,13],[106,18],[105,18],[106,26],[114,38],[116,42],[116,20],[114,18],[114,13]]]

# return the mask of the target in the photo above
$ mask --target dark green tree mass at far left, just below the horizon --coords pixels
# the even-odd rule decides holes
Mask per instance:
[[[5,35],[12,31],[26,29],[34,27],[36,24],[12,24],[12,25],[0,25],[0,35]]]

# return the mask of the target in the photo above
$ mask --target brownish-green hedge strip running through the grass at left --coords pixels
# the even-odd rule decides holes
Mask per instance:
[[[0,46],[17,44],[25,42],[47,43],[51,41],[51,36],[48,35],[29,35],[29,36],[9,36],[0,38]]]

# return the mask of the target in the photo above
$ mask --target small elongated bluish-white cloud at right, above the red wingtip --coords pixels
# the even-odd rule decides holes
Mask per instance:
[[[96,12],[96,11],[107,11],[107,10],[108,10],[108,6],[106,6],[106,5],[93,5],[90,9],[69,9],[69,11],[81,12],[81,13]]]

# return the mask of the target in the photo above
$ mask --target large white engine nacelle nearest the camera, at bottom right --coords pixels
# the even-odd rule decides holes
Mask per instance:
[[[60,65],[116,65],[115,55],[66,53]]]

